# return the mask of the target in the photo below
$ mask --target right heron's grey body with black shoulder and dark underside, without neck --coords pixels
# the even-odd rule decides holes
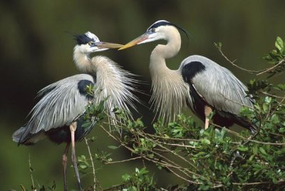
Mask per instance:
[[[215,124],[229,127],[237,123],[251,130],[252,125],[240,118],[239,112],[243,106],[252,108],[252,100],[247,96],[247,87],[231,71],[197,55],[182,61],[179,70],[190,88],[188,105],[199,118],[205,119],[203,108],[209,106],[216,111]]]

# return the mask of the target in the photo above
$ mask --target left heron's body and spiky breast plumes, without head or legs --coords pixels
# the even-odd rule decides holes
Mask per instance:
[[[95,103],[110,96],[105,101],[110,116],[114,116],[112,110],[115,106],[128,111],[127,104],[133,106],[131,99],[135,98],[130,92],[133,90],[132,79],[128,78],[130,73],[123,71],[104,56],[96,56],[93,58],[93,63],[98,65],[93,75],[78,74],[43,88],[38,93],[38,96],[42,96],[41,100],[31,111],[31,119],[14,133],[14,141],[19,144],[32,145],[48,136],[56,143],[69,142],[68,126],[84,113],[88,101],[93,99],[86,93],[85,88],[88,85],[95,86],[95,94],[97,93]],[[106,64],[110,66],[105,66]],[[114,71],[116,73],[113,73]],[[82,140],[83,135],[90,132],[92,128],[92,126],[81,128],[81,118],[78,118],[78,122],[78,129],[75,132],[76,141]]]

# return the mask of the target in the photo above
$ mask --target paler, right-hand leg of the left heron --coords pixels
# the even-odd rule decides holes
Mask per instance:
[[[78,172],[78,168],[77,168],[77,160],[76,160],[76,143],[75,143],[75,138],[74,138],[74,133],[76,132],[76,127],[77,127],[77,122],[73,122],[73,123],[71,123],[71,125],[69,125],[69,128],[71,130],[71,151],[72,151],[71,160],[73,162],[74,171],[76,172],[76,179],[78,182],[79,190],[82,190],[79,172]]]

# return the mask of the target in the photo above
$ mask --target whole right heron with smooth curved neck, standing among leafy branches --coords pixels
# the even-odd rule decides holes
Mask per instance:
[[[213,122],[229,127],[233,123],[255,131],[255,125],[239,117],[242,106],[252,108],[252,100],[247,95],[247,87],[232,72],[204,56],[189,56],[180,68],[170,70],[165,59],[172,58],[180,51],[180,28],[168,21],[160,20],[147,31],[125,44],[119,50],[140,43],[165,40],[158,44],[150,55],[150,75],[152,78],[152,98],[155,112],[160,118],[170,120],[188,105],[191,110],[209,126],[209,115],[215,111]]]

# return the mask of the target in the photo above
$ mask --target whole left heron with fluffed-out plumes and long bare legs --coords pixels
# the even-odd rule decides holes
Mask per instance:
[[[82,140],[93,125],[82,127],[81,115],[89,101],[99,103],[105,99],[105,108],[109,116],[116,107],[129,111],[128,105],[134,107],[137,97],[134,91],[132,74],[120,68],[105,56],[90,57],[90,53],[119,48],[120,44],[100,42],[93,33],[74,35],[77,41],[73,51],[73,60],[82,74],[64,78],[52,83],[38,92],[41,100],[31,110],[31,118],[23,127],[16,130],[12,138],[19,145],[33,145],[44,137],[55,143],[67,143],[63,154],[63,182],[67,190],[66,165],[69,145],[72,145],[71,159],[76,172],[78,187],[81,182],[76,164],[75,141]],[[95,86],[95,98],[86,94],[86,86]],[[110,119],[110,120],[113,120]]]

